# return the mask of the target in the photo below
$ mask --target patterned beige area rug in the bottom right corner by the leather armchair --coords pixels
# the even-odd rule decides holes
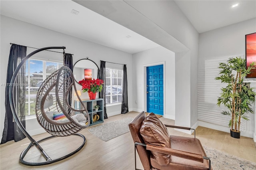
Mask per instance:
[[[204,146],[214,170],[256,170],[256,163]]]

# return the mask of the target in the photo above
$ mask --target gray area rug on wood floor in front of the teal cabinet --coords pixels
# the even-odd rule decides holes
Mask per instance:
[[[104,125],[96,126],[88,130],[106,142],[112,138],[130,132],[128,124],[132,121],[132,119],[133,118],[131,117],[127,117],[122,120],[105,123]]]

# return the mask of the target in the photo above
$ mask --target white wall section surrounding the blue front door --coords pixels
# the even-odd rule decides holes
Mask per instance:
[[[169,119],[175,118],[175,53],[162,47],[156,47],[133,54],[133,103],[134,111],[146,111],[144,78],[144,65],[164,62],[164,101],[165,101],[165,117]],[[135,103],[137,101],[137,103]]]

